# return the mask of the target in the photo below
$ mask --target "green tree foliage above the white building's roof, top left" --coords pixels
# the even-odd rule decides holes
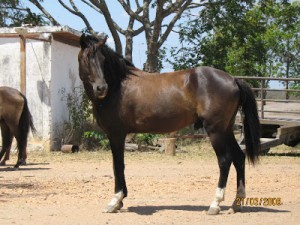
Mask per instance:
[[[23,7],[19,0],[2,0],[0,2],[0,26],[21,26],[22,24],[44,25],[46,21],[40,14]]]

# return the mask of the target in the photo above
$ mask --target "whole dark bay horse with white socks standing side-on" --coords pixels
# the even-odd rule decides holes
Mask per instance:
[[[107,47],[105,40],[82,35],[80,45],[79,75],[113,156],[115,195],[106,212],[119,210],[127,196],[126,134],[166,133],[190,124],[205,128],[218,158],[220,177],[208,213],[220,211],[232,163],[237,172],[236,196],[245,197],[245,156],[253,164],[258,159],[260,128],[254,95],[244,82],[210,67],[150,74]],[[244,115],[245,153],[233,133],[239,108]],[[240,210],[236,201],[230,210]]]

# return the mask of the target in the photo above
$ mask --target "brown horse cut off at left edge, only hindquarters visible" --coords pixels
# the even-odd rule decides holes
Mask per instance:
[[[26,97],[18,90],[10,87],[0,87],[0,126],[2,135],[2,149],[0,165],[9,160],[13,138],[17,140],[18,161],[15,168],[26,164],[26,147],[29,130],[35,132],[32,116],[28,109]]]

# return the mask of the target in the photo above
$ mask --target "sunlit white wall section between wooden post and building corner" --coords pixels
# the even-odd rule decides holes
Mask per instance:
[[[26,40],[26,97],[32,113],[37,136],[50,138],[51,44]]]

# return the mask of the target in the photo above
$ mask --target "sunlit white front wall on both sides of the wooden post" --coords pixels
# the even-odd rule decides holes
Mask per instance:
[[[26,98],[39,140],[50,135],[50,43],[26,39]],[[20,90],[20,39],[0,38],[0,86]]]

